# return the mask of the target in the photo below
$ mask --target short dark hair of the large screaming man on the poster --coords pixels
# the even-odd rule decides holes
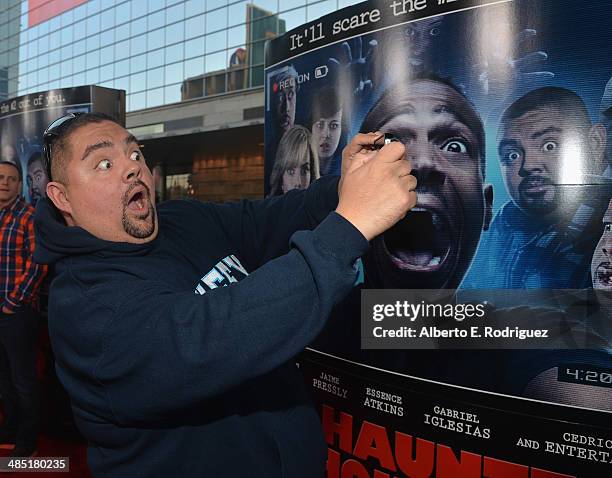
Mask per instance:
[[[464,123],[472,133],[476,136],[478,143],[478,158],[480,160],[480,169],[482,177],[485,177],[486,160],[485,160],[485,132],[482,120],[476,111],[476,108],[472,102],[465,96],[465,94],[457,88],[452,81],[446,78],[439,77],[433,73],[420,73],[411,76],[407,81],[396,83],[390,86],[376,102],[376,104],[368,111],[360,131],[367,133],[369,131],[377,131],[381,125],[389,121],[390,119],[403,113],[406,106],[404,98],[407,94],[410,94],[410,85],[421,81],[432,81],[435,83],[443,84],[453,91],[455,91],[463,100],[466,105],[466,112],[463,114],[460,111],[451,111],[462,123]]]

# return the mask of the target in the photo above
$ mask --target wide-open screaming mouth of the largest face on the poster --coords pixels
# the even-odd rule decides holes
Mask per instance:
[[[383,234],[383,243],[398,269],[431,272],[440,269],[449,256],[450,227],[442,215],[414,208]]]

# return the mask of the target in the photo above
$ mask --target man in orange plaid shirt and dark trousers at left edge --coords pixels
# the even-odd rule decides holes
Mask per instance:
[[[36,450],[38,290],[47,267],[33,261],[34,208],[21,197],[18,164],[0,161],[0,443],[12,456]]]

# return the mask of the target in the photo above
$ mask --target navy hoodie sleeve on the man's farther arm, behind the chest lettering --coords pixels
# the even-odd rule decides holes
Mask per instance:
[[[308,189],[259,201],[216,205],[217,220],[239,254],[256,269],[289,251],[289,239],[296,231],[316,227],[338,206],[337,176],[323,177]]]

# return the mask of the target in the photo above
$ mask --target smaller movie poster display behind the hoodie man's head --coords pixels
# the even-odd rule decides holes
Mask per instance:
[[[97,86],[43,91],[0,103],[0,157],[21,165],[23,196],[33,205],[46,197],[42,161],[45,128],[66,113],[101,112],[125,124],[125,92]]]

